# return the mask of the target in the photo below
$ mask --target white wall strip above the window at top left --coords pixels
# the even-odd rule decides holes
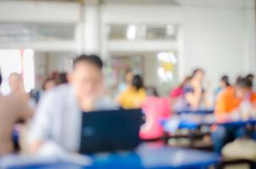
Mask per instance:
[[[0,1],[0,21],[64,22],[79,21],[79,3],[49,1]]]

